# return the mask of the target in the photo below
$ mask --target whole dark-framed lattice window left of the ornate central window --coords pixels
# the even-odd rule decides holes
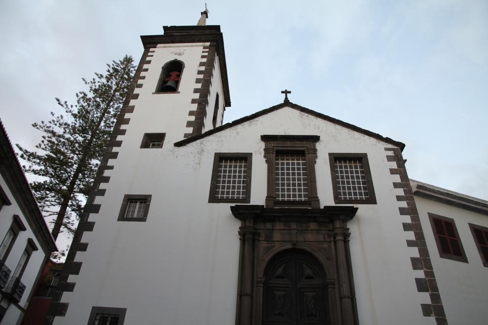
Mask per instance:
[[[249,202],[252,154],[216,153],[208,202]]]

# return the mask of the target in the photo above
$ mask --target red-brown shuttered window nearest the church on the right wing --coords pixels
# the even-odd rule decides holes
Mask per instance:
[[[440,257],[468,263],[454,219],[431,213],[428,216]]]

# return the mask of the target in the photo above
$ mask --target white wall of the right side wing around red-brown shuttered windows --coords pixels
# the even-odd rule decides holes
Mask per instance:
[[[488,227],[488,216],[416,196],[430,261],[449,324],[487,324],[488,268],[468,223]],[[468,263],[441,258],[427,213],[454,219]]]

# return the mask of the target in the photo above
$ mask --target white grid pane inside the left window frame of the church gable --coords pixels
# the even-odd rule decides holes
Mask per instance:
[[[215,199],[247,198],[247,159],[220,158],[215,182]]]

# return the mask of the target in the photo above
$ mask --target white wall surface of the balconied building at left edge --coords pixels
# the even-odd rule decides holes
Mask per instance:
[[[11,202],[10,206],[3,206],[0,211],[0,241],[3,240],[5,234],[7,233],[10,225],[12,224],[13,215],[18,215],[22,223],[27,228],[25,231],[20,231],[15,242],[10,250],[7,259],[5,260],[5,265],[10,269],[12,273],[15,271],[17,264],[27,246],[27,240],[31,238],[36,246],[39,248],[37,251],[33,251],[30,259],[25,267],[24,273],[20,278],[20,281],[25,285],[25,291],[22,295],[22,298],[18,305],[26,309],[27,308],[27,299],[29,298],[29,294],[32,291],[33,286],[35,285],[37,275],[39,271],[43,267],[44,258],[46,257],[45,252],[42,249],[38,239],[36,238],[35,233],[31,229],[29,222],[27,221],[25,215],[22,213],[22,210],[19,207],[19,203],[16,201],[16,198],[13,196],[12,192],[8,188],[7,184],[5,183],[3,177],[0,176],[0,185],[5,194],[7,195],[8,199]],[[1,296],[1,293],[0,293]],[[1,324],[16,324],[19,316],[23,314],[23,311],[18,308],[18,306],[14,304],[9,304],[7,308],[7,312],[1,322]]]

